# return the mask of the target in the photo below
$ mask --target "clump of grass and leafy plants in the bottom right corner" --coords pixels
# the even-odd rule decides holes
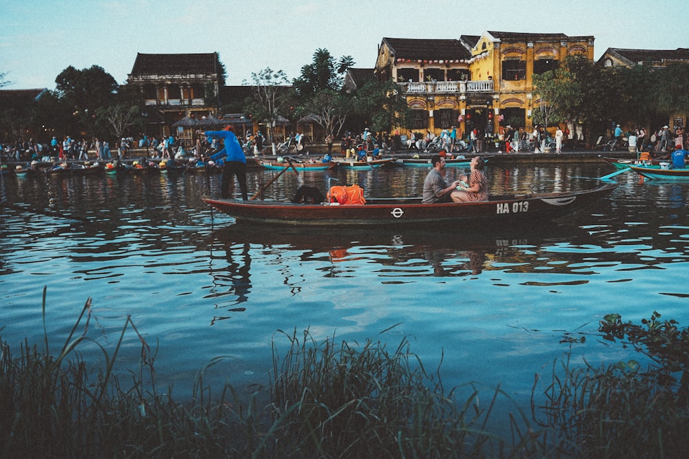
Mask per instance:
[[[559,451],[579,458],[686,458],[689,454],[689,330],[659,321],[642,325],[619,314],[600,321],[601,337],[621,341],[652,361],[594,367],[569,359],[553,364],[537,424],[559,433]]]

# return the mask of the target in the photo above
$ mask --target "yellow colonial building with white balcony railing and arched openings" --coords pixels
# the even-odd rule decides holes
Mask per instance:
[[[484,32],[458,40],[384,38],[376,78],[392,78],[413,110],[413,131],[456,126],[497,135],[508,123],[531,129],[539,100],[533,74],[557,68],[566,56],[593,61],[593,36]],[[406,133],[405,133],[406,134]]]

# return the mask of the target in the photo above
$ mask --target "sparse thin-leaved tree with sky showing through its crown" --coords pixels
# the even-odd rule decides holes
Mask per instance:
[[[245,109],[248,110],[258,120],[266,122],[268,127],[268,140],[273,145],[275,153],[275,142],[272,129],[280,116],[280,110],[286,105],[287,75],[282,70],[274,72],[270,67],[266,67],[258,73],[251,73],[251,94],[254,96],[252,103]],[[244,82],[246,84],[246,81]]]

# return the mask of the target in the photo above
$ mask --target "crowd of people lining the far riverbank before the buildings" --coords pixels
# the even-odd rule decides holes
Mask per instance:
[[[653,156],[667,155],[674,151],[677,145],[680,149],[684,149],[687,145],[686,131],[681,126],[670,129],[668,125],[664,125],[655,131],[650,131],[649,135],[644,127],[623,131],[617,125],[612,137],[624,147],[629,141],[635,142],[638,151],[650,151]],[[559,152],[564,145],[563,142],[571,138],[568,129],[557,128],[551,137],[548,130],[538,125],[533,128],[533,131],[524,127],[500,127],[500,132],[496,134],[488,134],[477,127],[463,133],[452,126],[449,129],[442,129],[440,134],[435,134],[430,130],[426,130],[425,133],[410,130],[406,136],[400,135],[399,130],[389,133],[365,128],[360,134],[347,131],[340,137],[340,154],[346,158],[356,158],[360,151],[369,155],[395,155],[403,150],[418,153],[440,150],[445,150],[450,154],[460,151],[486,153],[489,148],[493,148],[493,144],[498,153],[502,151],[537,153],[544,151],[546,145],[555,145],[555,152]],[[333,140],[332,134],[325,138],[329,155],[333,152]],[[238,141],[246,153],[251,152],[254,156],[266,153],[267,140],[260,131],[256,133],[249,131],[245,136],[238,137]],[[299,132],[291,132],[285,139],[285,145],[289,147],[290,152],[294,153],[307,152],[309,142],[309,138]],[[212,139],[207,139],[198,133],[192,140],[181,140],[172,135],[157,137],[139,134],[136,139],[129,136],[116,141],[104,138],[87,140],[71,136],[65,138],[54,136],[48,142],[37,142],[32,138],[15,142],[0,142],[3,162],[127,159],[130,157],[130,151],[137,147],[145,149],[146,156],[169,160],[192,156],[204,158],[216,151]]]

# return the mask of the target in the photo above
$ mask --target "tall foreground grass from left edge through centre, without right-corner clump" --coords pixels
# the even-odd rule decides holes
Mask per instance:
[[[45,333],[43,349],[24,341],[13,355],[0,344],[0,455],[12,458],[452,458],[532,456],[542,451],[535,434],[513,422],[507,442],[486,432],[497,389],[481,407],[473,389],[463,403],[444,394],[438,372],[428,374],[402,343],[362,345],[335,337],[316,343],[309,332],[274,363],[271,388],[241,396],[231,385],[214,393],[198,373],[191,398],[174,401],[172,388],[155,385],[154,354],[131,319],[114,349],[87,336],[91,301],[56,355]],[[45,321],[45,290],[43,292]],[[76,330],[83,328],[79,335]],[[136,372],[115,375],[123,338],[141,340]],[[90,342],[104,367],[79,354]],[[152,381],[145,387],[143,381]],[[514,421],[514,420],[513,420]],[[520,425],[526,420],[522,416]]]

